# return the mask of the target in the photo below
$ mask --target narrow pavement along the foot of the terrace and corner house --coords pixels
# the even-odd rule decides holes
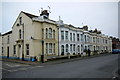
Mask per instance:
[[[99,57],[99,56],[106,56],[106,55],[112,55],[111,53],[106,53],[106,54],[99,54],[99,55],[91,55],[91,56],[82,56],[82,57],[73,57],[71,59],[68,58],[63,58],[63,57],[58,57],[58,58],[53,58],[49,59],[47,62],[42,63],[42,62],[32,62],[32,61],[22,61],[18,59],[7,59],[3,58],[1,59],[2,62],[11,62],[11,63],[20,63],[20,64],[28,64],[28,65],[39,65],[39,64],[58,64],[58,63],[65,63],[65,62],[70,62],[70,61],[76,61],[80,59],[88,59],[88,58],[94,58],[94,57]]]

